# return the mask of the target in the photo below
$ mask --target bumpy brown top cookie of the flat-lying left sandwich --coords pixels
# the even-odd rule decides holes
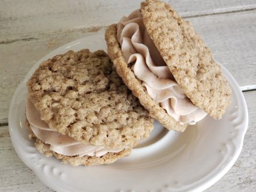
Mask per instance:
[[[104,51],[57,55],[40,64],[27,86],[41,119],[82,143],[132,148],[153,128]]]

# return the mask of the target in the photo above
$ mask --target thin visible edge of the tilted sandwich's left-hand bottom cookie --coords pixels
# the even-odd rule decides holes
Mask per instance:
[[[180,124],[168,115],[167,112],[160,107],[159,103],[155,102],[154,99],[147,94],[141,81],[135,77],[135,74],[129,68],[117,41],[116,24],[112,24],[108,27],[105,33],[105,40],[108,45],[109,56],[114,63],[115,70],[117,70],[117,73],[122,77],[129,89],[133,91],[133,94],[139,98],[141,104],[150,112],[150,115],[169,130],[184,131],[187,124]]]

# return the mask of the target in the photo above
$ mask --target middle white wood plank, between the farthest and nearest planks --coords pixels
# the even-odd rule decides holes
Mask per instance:
[[[189,20],[240,86],[256,84],[256,10]],[[14,90],[32,65],[60,45],[87,34],[84,29],[56,31],[0,43],[0,119],[7,118]]]

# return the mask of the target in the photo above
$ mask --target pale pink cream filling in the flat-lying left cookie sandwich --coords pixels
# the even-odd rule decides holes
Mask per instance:
[[[103,146],[94,146],[90,144],[83,144],[69,137],[68,135],[62,135],[49,128],[48,124],[40,118],[40,113],[36,110],[30,99],[26,101],[26,116],[30,123],[32,132],[38,139],[44,141],[44,143],[51,145],[50,149],[56,153],[65,156],[79,157],[88,155],[101,157],[108,152],[120,152],[124,148],[111,149]]]

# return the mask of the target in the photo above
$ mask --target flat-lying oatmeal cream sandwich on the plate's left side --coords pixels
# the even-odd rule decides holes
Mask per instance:
[[[42,62],[27,82],[30,139],[71,165],[110,164],[149,136],[153,119],[104,51],[68,51]]]

